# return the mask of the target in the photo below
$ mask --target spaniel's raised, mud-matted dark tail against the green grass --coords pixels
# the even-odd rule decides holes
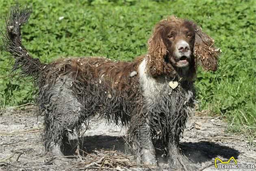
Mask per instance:
[[[13,70],[21,69],[22,76],[33,76],[37,80],[43,64],[29,55],[21,38],[21,26],[28,21],[31,13],[30,8],[20,8],[18,5],[12,7],[6,19],[6,32],[2,33],[2,40],[4,49],[15,59]]]

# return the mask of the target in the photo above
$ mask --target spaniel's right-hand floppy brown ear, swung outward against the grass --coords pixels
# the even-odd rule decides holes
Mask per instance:
[[[218,57],[221,53],[220,49],[214,47],[214,40],[197,25],[195,28],[195,46],[194,55],[196,63],[202,65],[204,70],[216,71],[218,68]]]

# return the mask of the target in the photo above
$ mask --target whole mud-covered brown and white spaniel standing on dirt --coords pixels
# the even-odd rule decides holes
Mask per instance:
[[[197,63],[206,70],[217,69],[219,51],[213,39],[195,23],[172,16],[156,25],[148,53],[132,62],[83,57],[43,64],[21,42],[20,27],[31,12],[11,9],[3,42],[15,59],[13,70],[33,76],[39,87],[46,152],[70,153],[65,144],[78,139],[82,123],[100,114],[128,127],[126,149],[138,163],[157,165],[157,146],[166,151],[170,167],[183,168],[186,159],[180,154],[179,138],[193,114]]]

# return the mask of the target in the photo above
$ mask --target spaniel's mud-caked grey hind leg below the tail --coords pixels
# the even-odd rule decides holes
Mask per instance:
[[[43,102],[40,104],[45,108],[45,148],[46,152],[54,155],[75,153],[79,129],[85,120],[82,104],[71,87],[72,79],[63,76],[57,78],[54,84],[46,85],[39,90],[39,97]]]

